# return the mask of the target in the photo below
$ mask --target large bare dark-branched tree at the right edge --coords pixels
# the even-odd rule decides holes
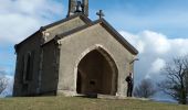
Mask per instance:
[[[188,97],[188,56],[174,58],[163,69],[166,76],[158,86],[179,103],[186,105]]]

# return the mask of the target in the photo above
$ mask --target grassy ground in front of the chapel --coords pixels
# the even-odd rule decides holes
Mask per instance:
[[[38,97],[0,99],[0,110],[188,110],[188,106],[135,99]]]

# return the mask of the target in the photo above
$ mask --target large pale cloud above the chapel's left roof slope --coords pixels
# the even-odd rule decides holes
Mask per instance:
[[[1,0],[0,44],[21,42],[60,16],[63,10],[63,4],[55,0]]]

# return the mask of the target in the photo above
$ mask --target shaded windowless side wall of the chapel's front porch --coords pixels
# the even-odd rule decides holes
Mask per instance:
[[[59,80],[59,48],[53,42],[43,46],[40,92],[56,92]]]

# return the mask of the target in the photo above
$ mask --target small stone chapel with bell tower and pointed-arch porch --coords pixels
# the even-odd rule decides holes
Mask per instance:
[[[65,19],[17,44],[13,96],[126,96],[138,51],[97,14],[88,19],[88,0],[69,0]]]

